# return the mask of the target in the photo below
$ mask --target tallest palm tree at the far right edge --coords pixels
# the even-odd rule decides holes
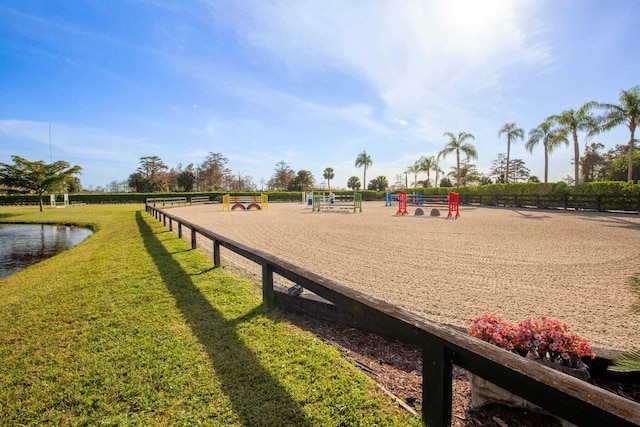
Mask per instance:
[[[621,124],[629,128],[629,169],[627,181],[633,181],[633,144],[636,142],[636,127],[640,126],[640,86],[623,90],[620,93],[620,104],[600,104],[597,106],[606,110],[602,121],[602,130],[611,130]]]

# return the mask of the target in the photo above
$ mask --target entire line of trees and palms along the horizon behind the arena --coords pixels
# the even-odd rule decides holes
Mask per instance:
[[[499,153],[492,162],[489,174],[477,171],[472,160],[477,160],[478,151],[471,141],[473,134],[468,132],[445,132],[444,148],[435,155],[421,156],[402,174],[397,174],[390,185],[385,176],[378,176],[367,182],[367,170],[373,160],[366,151],[358,154],[354,166],[363,168],[363,179],[351,176],[347,187],[353,190],[367,188],[385,191],[392,188],[409,187],[408,177],[413,174],[413,186],[457,186],[483,185],[490,183],[509,183],[532,181],[539,178],[530,174],[522,159],[511,158],[511,146],[525,141],[525,148],[533,153],[542,147],[544,155],[544,182],[548,182],[549,156],[561,146],[573,145],[574,176],[567,176],[568,184],[591,181],[637,181],[640,176],[640,153],[636,151],[638,142],[635,130],[640,123],[640,86],[623,90],[619,103],[587,102],[580,108],[565,110],[560,114],[547,117],[542,123],[531,129],[527,135],[523,128],[515,123],[505,123],[498,130],[498,137],[506,137],[506,153]],[[591,138],[610,131],[618,126],[629,130],[629,141],[618,144],[603,153],[604,145],[598,142],[587,143]],[[579,133],[586,134],[584,153],[580,155]],[[526,140],[525,140],[526,138]],[[455,166],[445,173],[439,164],[449,155],[455,155]],[[64,161],[46,164],[43,161],[31,162],[19,156],[12,156],[14,164],[0,163],[0,187],[7,191],[33,192],[40,196],[51,192],[77,192],[81,190],[80,180],[76,177],[82,168],[71,166]],[[228,159],[220,153],[209,153],[200,165],[178,165],[169,168],[158,156],[140,158],[140,166],[122,183],[110,184],[111,191],[160,192],[160,191],[255,191],[258,189],[253,178],[244,173],[234,173],[227,167]],[[418,174],[426,173],[426,180],[419,181]],[[431,181],[431,173],[435,180]],[[335,173],[332,167],[324,169],[323,178],[331,190]],[[439,180],[439,178],[442,179]],[[308,191],[316,186],[313,174],[309,170],[294,171],[284,161],[276,164],[274,174],[268,181],[260,180],[260,190]],[[42,201],[40,201],[42,204]]]

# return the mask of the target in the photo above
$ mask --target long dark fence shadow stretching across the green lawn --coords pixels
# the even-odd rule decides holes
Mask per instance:
[[[260,364],[238,336],[238,323],[262,314],[258,306],[240,318],[227,320],[211,306],[171,253],[155,236],[142,213],[136,221],[144,245],[153,258],[167,289],[189,327],[205,347],[222,391],[229,398],[235,414],[245,426],[278,425],[306,426],[298,403],[276,378]]]

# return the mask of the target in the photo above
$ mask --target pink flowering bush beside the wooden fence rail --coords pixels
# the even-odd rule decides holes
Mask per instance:
[[[514,326],[493,314],[483,314],[469,325],[472,336],[522,356],[571,367],[583,356],[596,356],[586,339],[568,332],[566,323],[545,316],[527,318]]]

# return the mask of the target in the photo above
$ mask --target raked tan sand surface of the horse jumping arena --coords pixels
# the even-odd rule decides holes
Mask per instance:
[[[640,348],[640,216],[461,207],[458,220],[397,216],[384,202],[362,213],[313,213],[300,203],[263,211],[208,204],[174,208],[188,221],[276,255],[424,318],[465,326],[485,312],[517,323],[558,318],[592,346]],[[223,262],[256,267],[223,250]]]

